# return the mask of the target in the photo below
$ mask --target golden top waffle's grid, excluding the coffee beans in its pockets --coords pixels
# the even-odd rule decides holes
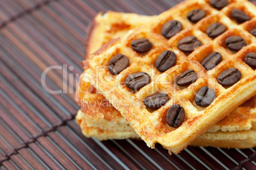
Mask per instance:
[[[206,129],[210,128],[210,126],[222,119],[225,115],[229,114],[231,110],[246,99],[250,98],[250,96],[255,95],[255,88],[253,88],[255,85],[255,71],[250,69],[250,67],[248,67],[243,60],[241,60],[241,57],[239,58],[239,56],[255,48],[255,44],[253,44],[255,42],[255,37],[246,32],[243,27],[237,26],[236,23],[232,22],[227,15],[232,8],[241,9],[242,7],[246,13],[250,14],[251,16],[255,15],[253,14],[253,10],[255,11],[255,9],[252,9],[252,5],[247,2],[243,2],[243,5],[241,5],[241,2],[231,3],[221,12],[218,12],[203,1],[187,1],[159,15],[154,22],[150,22],[148,27],[133,30],[129,32],[129,34],[127,34],[123,39],[117,39],[107,44],[100,51],[97,51],[93,58],[89,60],[87,71],[89,71],[89,73],[92,75],[96,75],[96,66],[102,66],[101,69],[99,69],[99,72],[97,72],[97,82],[100,83],[100,86],[96,86],[96,88],[99,89],[99,91],[103,93],[103,95],[106,96],[106,98],[113,105],[115,105],[118,110],[121,111],[122,115],[125,117],[125,119],[127,119],[127,121],[131,122],[132,128],[136,130],[139,136],[143,138],[149,147],[153,147],[153,144],[158,142],[169,151],[174,153],[180,152],[181,149],[185,148],[188,143],[194,140],[199,134],[203,133],[206,131]],[[187,10],[192,10],[193,8],[204,8],[208,15],[194,26],[185,20],[183,16]],[[227,16],[225,13],[227,13]],[[165,23],[167,20],[170,20],[172,17],[176,20],[180,20],[184,30],[166,41],[166,39],[159,35],[159,25]],[[210,22],[211,18],[215,17],[217,20],[218,18],[224,18],[224,22],[226,24],[232,23],[232,25],[226,25],[229,26],[228,30],[222,36],[217,38],[218,41],[210,39],[208,36],[206,36],[206,34],[204,34],[203,30],[199,29],[200,23],[206,22],[206,20]],[[232,55],[231,51],[227,51],[223,43],[220,43],[225,41],[227,36],[236,34],[243,37],[250,45]],[[206,70],[204,70],[193,57],[188,56],[188,60],[182,59],[184,58],[184,53],[181,53],[176,46],[180,39],[185,36],[192,35],[200,39],[204,46],[197,48],[190,56],[193,56],[193,54],[195,56],[196,53],[200,52],[198,51],[199,49],[203,51],[203,49],[206,48],[223,49],[225,53],[229,54],[227,55],[227,58],[224,58],[224,60],[218,64],[217,67],[215,67],[215,71],[206,72]],[[129,47],[129,42],[131,42],[132,39],[137,39],[139,37],[146,37],[150,40],[150,42],[153,43],[153,49],[151,49],[150,52],[143,57],[132,51]],[[157,72],[156,69],[150,67],[150,64],[155,62],[155,56],[157,56],[157,53],[159,54],[159,51],[163,49],[171,49],[174,51],[178,60],[176,66],[167,70],[164,72],[164,74],[161,74]],[[113,75],[110,75],[110,72],[108,69],[106,69],[106,65],[110,58],[120,52],[129,56],[131,63],[127,69],[121,72],[122,75],[125,75],[125,73],[131,74],[132,72],[143,70],[144,72],[148,72],[148,74],[151,76],[155,75],[155,77],[160,79],[162,82],[168,82],[169,78],[173,79],[176,75],[189,68],[194,69],[197,72],[198,79],[196,82],[194,82],[193,86],[188,86],[185,89],[179,89],[174,83],[158,84],[156,79],[152,79],[150,84],[140,89],[138,93],[132,94],[129,90],[125,89],[124,84],[121,83],[124,82],[125,76],[114,77]],[[231,88],[225,89],[223,86],[218,84],[216,81],[216,76],[218,73],[233,66],[238,67],[239,70],[241,69],[240,71],[242,72],[242,78]],[[96,84],[96,82],[93,80],[91,82],[92,84]],[[119,89],[116,88],[109,91],[113,87],[113,82],[117,82]],[[192,102],[194,98],[193,91],[198,91],[199,87],[202,87],[203,85],[208,85],[211,88],[215,88],[215,93],[217,94],[215,101],[206,109],[197,108]],[[151,90],[148,91],[146,89]],[[169,100],[164,107],[161,107],[156,112],[149,112],[145,109],[145,106],[141,100],[143,100],[143,98],[146,96],[155,93],[157,89],[166,91],[171,100]],[[109,93],[106,93],[106,91]],[[237,98],[237,96],[239,96],[239,98]],[[126,97],[129,98],[129,100],[132,99],[132,101],[136,101],[138,106],[133,107],[132,104],[134,104],[134,102],[128,102],[128,105],[124,105],[120,102],[115,103],[115,101],[123,101],[125,103]],[[166,125],[166,121],[164,121],[167,109],[173,103],[179,103],[185,108],[185,122],[183,122],[180,128],[170,128]],[[186,129],[189,129],[189,131],[186,131]]]

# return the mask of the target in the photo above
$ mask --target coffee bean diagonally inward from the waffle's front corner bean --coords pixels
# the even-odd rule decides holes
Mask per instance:
[[[197,80],[197,73],[190,69],[180,74],[176,79],[178,86],[188,86]]]

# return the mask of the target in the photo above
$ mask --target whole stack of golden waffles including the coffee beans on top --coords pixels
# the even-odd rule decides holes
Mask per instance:
[[[141,138],[170,154],[187,145],[254,147],[255,16],[241,0],[97,15],[76,92],[83,134]]]

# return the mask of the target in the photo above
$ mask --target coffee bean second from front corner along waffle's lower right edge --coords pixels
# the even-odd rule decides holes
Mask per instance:
[[[207,86],[196,93],[195,102],[199,107],[208,107],[215,99],[215,91]]]

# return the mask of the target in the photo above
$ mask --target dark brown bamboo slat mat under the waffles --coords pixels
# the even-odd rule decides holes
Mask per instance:
[[[74,120],[77,80],[69,75],[82,72],[93,17],[155,15],[180,1],[1,0],[0,169],[256,169],[256,148],[188,147],[169,156],[143,141],[85,138]],[[51,66],[62,68],[46,76],[48,89],[62,91],[56,95],[41,84]]]

